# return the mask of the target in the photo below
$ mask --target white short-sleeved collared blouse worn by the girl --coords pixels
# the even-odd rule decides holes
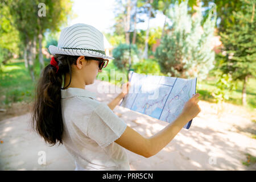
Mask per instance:
[[[61,89],[63,144],[78,170],[130,170],[123,147],[114,141],[127,124],[96,93],[81,88]]]

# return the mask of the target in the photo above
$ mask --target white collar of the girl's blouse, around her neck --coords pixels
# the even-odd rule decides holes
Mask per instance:
[[[73,88],[69,87],[67,89],[61,89],[61,98],[69,98],[69,97],[89,97],[96,100],[96,93],[90,92],[89,90],[81,89],[81,88]]]

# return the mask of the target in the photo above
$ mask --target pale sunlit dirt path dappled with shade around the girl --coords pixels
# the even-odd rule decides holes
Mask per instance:
[[[96,81],[86,89],[97,92]],[[109,82],[104,82],[110,86]],[[113,85],[112,85],[113,86]],[[108,103],[115,94],[100,94],[97,99]],[[200,101],[201,113],[193,119],[189,130],[182,129],[166,147],[151,158],[143,158],[127,151],[131,170],[255,170],[245,162],[246,153],[256,156],[256,139],[249,134],[256,131],[250,119],[255,115],[241,107],[224,105],[217,116],[216,104]],[[140,134],[150,137],[168,123],[123,107],[114,113]],[[1,119],[2,120],[2,119]],[[0,170],[73,170],[75,164],[64,146],[48,147],[42,138],[28,127],[30,113],[0,121]],[[46,154],[46,164],[40,165],[40,151]]]

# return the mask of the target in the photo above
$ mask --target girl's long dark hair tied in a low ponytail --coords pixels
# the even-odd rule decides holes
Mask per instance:
[[[76,65],[79,56],[55,55],[59,70],[48,64],[41,72],[35,88],[34,106],[32,108],[31,126],[45,142],[54,146],[63,144],[63,119],[61,114],[61,89],[71,83],[71,65]],[[56,73],[57,71],[57,73]],[[69,73],[69,84],[61,88],[63,77]]]

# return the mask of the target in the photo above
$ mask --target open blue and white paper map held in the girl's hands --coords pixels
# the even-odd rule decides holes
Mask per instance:
[[[196,93],[196,80],[131,72],[129,93],[120,106],[172,123]],[[189,129],[191,123],[184,128]]]

